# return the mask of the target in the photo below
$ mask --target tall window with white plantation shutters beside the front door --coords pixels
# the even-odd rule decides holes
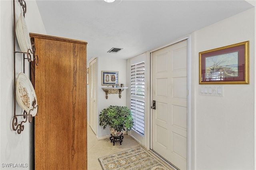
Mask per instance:
[[[131,65],[131,111],[133,130],[144,135],[145,63]]]

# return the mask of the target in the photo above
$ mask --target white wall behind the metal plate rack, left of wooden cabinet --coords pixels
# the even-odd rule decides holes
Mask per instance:
[[[18,1],[16,2],[16,20],[21,12]],[[13,73],[13,2],[0,0],[0,169],[33,169],[32,167],[32,125],[24,123],[24,131],[17,134],[12,130],[12,117],[14,114],[14,73]],[[46,34],[36,2],[26,1],[26,23],[29,32]],[[16,51],[20,51],[16,41]],[[30,75],[29,63],[26,62],[26,74]],[[16,78],[22,72],[22,55],[16,54]],[[22,113],[16,103],[16,114]],[[3,164],[23,164],[24,168],[6,168]]]

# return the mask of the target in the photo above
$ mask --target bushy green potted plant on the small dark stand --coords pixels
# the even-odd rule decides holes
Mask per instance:
[[[103,129],[109,125],[110,132],[113,136],[122,134],[122,130],[126,132],[132,130],[133,118],[132,112],[126,106],[109,106],[100,113],[100,126]]]

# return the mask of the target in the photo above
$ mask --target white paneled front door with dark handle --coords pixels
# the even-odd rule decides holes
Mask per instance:
[[[188,40],[152,52],[151,149],[178,169],[187,169]]]

